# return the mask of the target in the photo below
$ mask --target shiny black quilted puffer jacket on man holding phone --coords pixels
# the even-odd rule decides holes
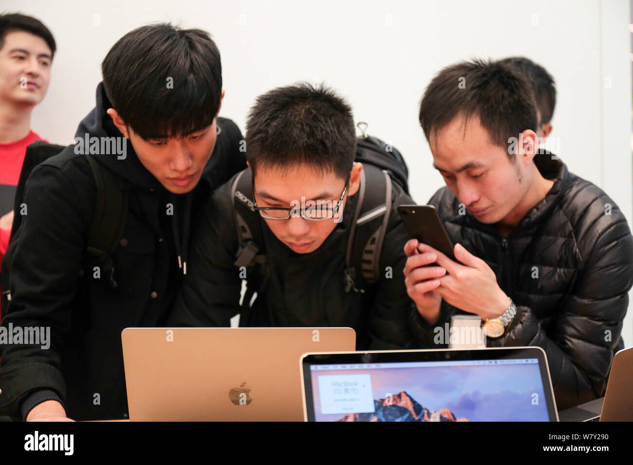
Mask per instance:
[[[444,187],[430,199],[451,239],[492,268],[517,304],[506,333],[488,347],[537,345],[548,356],[556,406],[565,409],[604,395],[614,350],[624,347],[622,320],[633,283],[633,238],[624,215],[601,189],[548,154],[535,163],[555,180],[546,197],[503,239]],[[461,310],[442,302],[444,325]],[[435,333],[418,314],[423,347]]]

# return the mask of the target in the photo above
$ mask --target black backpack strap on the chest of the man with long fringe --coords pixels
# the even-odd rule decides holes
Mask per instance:
[[[101,271],[116,287],[112,254],[123,235],[128,211],[128,192],[123,179],[110,168],[86,154],[94,180],[97,184],[97,199],[86,251],[95,258]]]

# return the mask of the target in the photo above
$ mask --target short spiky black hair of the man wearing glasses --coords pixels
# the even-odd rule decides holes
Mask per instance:
[[[257,97],[246,121],[246,159],[287,170],[304,164],[347,178],[356,155],[349,104],[324,84],[298,82]]]

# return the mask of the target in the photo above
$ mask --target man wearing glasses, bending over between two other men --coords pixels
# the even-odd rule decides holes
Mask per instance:
[[[408,235],[397,207],[413,201],[396,183],[380,279],[362,295],[346,290],[356,193],[361,173],[369,169],[354,162],[349,105],[323,86],[273,89],[258,97],[249,113],[246,148],[249,168],[236,176],[252,178],[247,184],[252,195],[235,190],[239,179],[234,178],[203,209],[168,325],[230,326],[242,310],[242,278],[248,286],[265,279],[250,307],[248,326],[349,326],[356,330],[359,350],[411,347],[413,307],[402,278]],[[240,252],[235,201],[247,206],[241,211],[249,215],[246,223],[256,225],[254,241],[266,257],[266,268],[248,276],[235,263]]]

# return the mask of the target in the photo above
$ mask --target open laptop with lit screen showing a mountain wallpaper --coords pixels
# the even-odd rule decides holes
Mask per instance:
[[[558,421],[540,347],[304,354],[306,421]]]

